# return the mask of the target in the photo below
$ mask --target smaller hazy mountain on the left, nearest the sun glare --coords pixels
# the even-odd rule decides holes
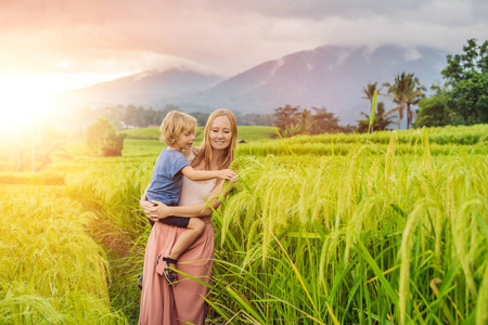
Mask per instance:
[[[171,99],[211,88],[222,79],[220,76],[185,68],[147,70],[65,92],[59,99],[76,103],[77,106],[134,104],[163,108],[163,99],[170,102]]]

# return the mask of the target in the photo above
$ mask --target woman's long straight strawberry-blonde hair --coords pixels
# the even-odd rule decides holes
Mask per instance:
[[[232,140],[230,145],[226,148],[227,153],[223,155],[221,161],[217,161],[218,169],[227,169],[234,160],[235,157],[235,145],[237,143],[237,121],[235,120],[234,114],[230,109],[220,108],[214,110],[210,116],[208,116],[207,125],[205,126],[204,139],[202,141],[202,146],[192,161],[192,166],[198,166],[202,160],[205,162],[204,169],[210,169],[211,161],[211,144],[210,144],[210,130],[214,126],[214,121],[217,117],[227,116],[231,122]]]

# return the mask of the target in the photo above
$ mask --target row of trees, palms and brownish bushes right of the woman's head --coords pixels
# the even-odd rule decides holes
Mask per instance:
[[[378,102],[370,128],[370,116],[361,113],[364,119],[357,126],[341,127],[338,118],[325,107],[311,109],[285,105],[274,108],[274,125],[283,136],[296,134],[318,134],[334,132],[368,132],[387,130],[390,125],[407,117],[407,129],[438,127],[448,125],[488,123],[488,41],[477,44],[475,39],[467,40],[463,54],[448,55],[447,67],[441,70],[444,86],[433,84],[434,94],[425,96],[426,87],[421,84],[414,74],[398,73],[394,82],[368,83],[362,99],[373,104],[373,96],[385,98],[394,103],[394,108],[385,110],[385,104]],[[414,109],[418,106],[418,109]],[[406,116],[407,115],[407,116]],[[395,121],[396,119],[396,121]]]

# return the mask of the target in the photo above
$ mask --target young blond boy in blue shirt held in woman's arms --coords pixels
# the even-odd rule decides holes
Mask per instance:
[[[150,185],[146,190],[149,202],[162,202],[167,206],[176,206],[180,199],[183,176],[192,181],[205,181],[215,178],[230,180],[236,174],[231,169],[222,170],[194,170],[190,166],[183,151],[189,151],[195,140],[196,120],[192,116],[171,110],[160,125],[160,140],[166,147],[157,157],[153,169]],[[205,230],[205,224],[198,218],[167,217],[159,222],[185,227],[187,230],[178,237],[168,257],[164,257],[166,266],[164,275],[168,283],[176,286],[177,273],[169,269],[176,268],[176,262],[190,245],[195,242]],[[151,225],[154,224],[150,220]],[[158,261],[159,262],[159,259]]]

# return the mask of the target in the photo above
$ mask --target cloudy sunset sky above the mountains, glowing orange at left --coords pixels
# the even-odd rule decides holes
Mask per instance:
[[[325,44],[460,53],[488,38],[487,16],[485,0],[0,0],[0,120],[147,69],[230,77]]]

